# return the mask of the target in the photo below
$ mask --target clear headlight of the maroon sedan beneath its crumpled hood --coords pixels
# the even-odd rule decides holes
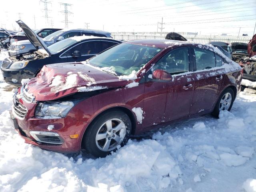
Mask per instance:
[[[65,117],[74,106],[71,101],[66,102],[45,102],[36,106],[35,115],[42,119],[56,119]]]

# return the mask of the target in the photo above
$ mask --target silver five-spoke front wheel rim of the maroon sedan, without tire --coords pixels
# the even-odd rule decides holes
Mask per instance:
[[[95,137],[98,149],[112,151],[122,143],[126,135],[126,126],[121,119],[113,118],[104,122]]]

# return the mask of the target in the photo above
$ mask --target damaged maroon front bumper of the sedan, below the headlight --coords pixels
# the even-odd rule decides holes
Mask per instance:
[[[83,130],[88,123],[75,120],[68,116],[60,119],[38,119],[34,116],[35,102],[26,103],[22,98],[19,98],[19,102],[26,107],[28,111],[26,116],[20,118],[13,110],[10,111],[10,116],[13,120],[14,128],[26,143],[54,152],[76,153],[80,151]],[[48,130],[49,125],[53,125],[54,129]],[[62,144],[40,142],[33,138],[30,131],[54,132],[60,136]],[[78,138],[70,138],[70,135],[75,134],[78,134]]]

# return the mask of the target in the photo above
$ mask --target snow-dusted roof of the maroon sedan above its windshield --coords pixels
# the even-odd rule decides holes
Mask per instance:
[[[145,45],[145,46],[152,46],[157,48],[167,48],[174,45],[198,45],[197,43],[188,42],[188,41],[177,41],[177,40],[167,40],[167,39],[142,39],[142,40],[131,40],[126,41],[124,43],[129,44],[137,44],[137,45]]]

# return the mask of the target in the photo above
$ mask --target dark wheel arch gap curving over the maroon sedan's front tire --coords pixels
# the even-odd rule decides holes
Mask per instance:
[[[135,134],[135,131],[136,131],[136,117],[134,116],[134,113],[129,109],[129,108],[126,108],[124,106],[113,106],[113,107],[110,107],[110,108],[107,108],[103,111],[101,111],[100,113],[98,113],[96,116],[94,116],[94,118],[92,118],[92,120],[90,120],[89,124],[87,125],[87,127],[84,129],[84,132],[82,134],[82,138],[81,138],[81,141],[80,141],[80,149],[82,147],[82,141],[84,139],[84,134],[86,133],[86,130],[87,128],[90,126],[90,124],[92,124],[92,122],[94,122],[94,120],[97,119],[98,116],[102,115],[102,114],[105,114],[105,113],[108,113],[110,111],[113,111],[113,110],[121,110],[123,111],[124,113],[126,113],[128,115],[128,117],[130,118],[131,120],[131,123],[132,123],[132,132],[131,134],[134,135]]]

